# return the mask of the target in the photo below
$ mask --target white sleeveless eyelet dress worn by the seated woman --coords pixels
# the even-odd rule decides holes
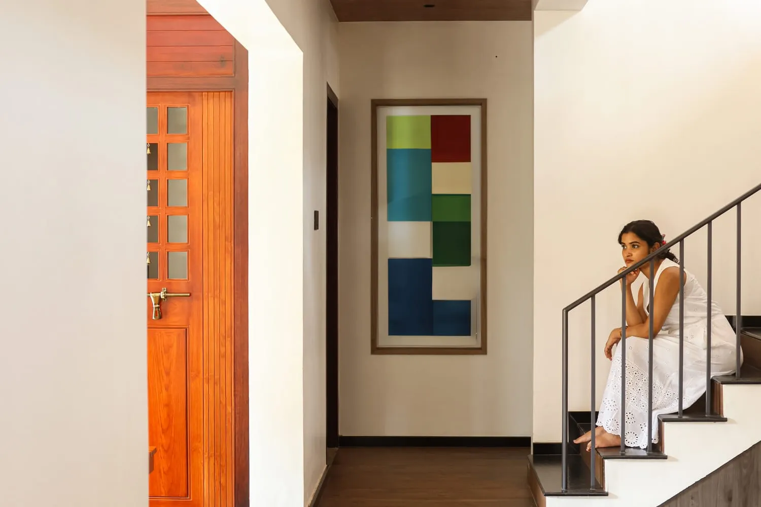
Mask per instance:
[[[679,269],[664,259],[655,273],[655,286],[665,269]],[[683,408],[705,394],[706,323],[708,297],[692,274],[685,271]],[[642,305],[648,312],[648,280],[642,285]],[[712,305],[711,375],[735,371],[735,333],[718,305]],[[648,446],[648,335],[626,339],[626,435],[627,447]],[[608,382],[600,404],[597,426],[621,435],[621,342],[610,365]],[[679,295],[661,332],[653,338],[653,442],[658,442],[658,416],[679,410]]]

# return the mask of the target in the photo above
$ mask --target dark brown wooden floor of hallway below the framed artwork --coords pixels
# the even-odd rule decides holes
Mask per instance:
[[[317,507],[533,507],[528,448],[340,448]]]

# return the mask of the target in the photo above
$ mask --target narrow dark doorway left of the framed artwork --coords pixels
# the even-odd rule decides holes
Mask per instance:
[[[326,440],[338,447],[338,97],[327,87],[326,157]]]

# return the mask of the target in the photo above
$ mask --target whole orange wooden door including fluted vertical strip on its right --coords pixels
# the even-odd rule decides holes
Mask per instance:
[[[231,95],[148,93],[151,507],[234,505]]]

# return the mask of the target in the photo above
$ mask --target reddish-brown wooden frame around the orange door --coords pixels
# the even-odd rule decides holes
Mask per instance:
[[[148,0],[146,14],[209,15],[195,0]],[[248,402],[248,50],[235,40],[234,76],[146,78],[146,92],[233,92],[234,499],[250,506]]]

